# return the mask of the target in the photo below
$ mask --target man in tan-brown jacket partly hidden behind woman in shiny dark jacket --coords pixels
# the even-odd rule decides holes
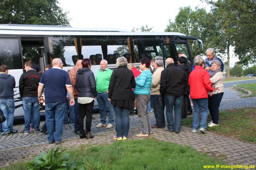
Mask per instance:
[[[74,122],[74,133],[79,134],[80,130],[79,130],[79,122],[78,122],[78,118],[79,118],[79,105],[77,102],[78,99],[78,91],[76,90],[75,84],[76,84],[76,73],[78,71],[78,69],[82,69],[82,60],[79,59],[76,61],[76,65],[69,71],[68,75],[70,77],[70,81],[72,84],[72,89],[73,89],[73,93],[74,93],[74,100],[75,100],[75,104],[73,106],[70,106],[70,118],[73,118],[73,120],[71,120],[71,122]]]

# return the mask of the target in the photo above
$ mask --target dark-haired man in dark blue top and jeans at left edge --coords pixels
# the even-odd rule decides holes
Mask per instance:
[[[9,135],[10,133],[17,133],[18,130],[13,129],[14,120],[14,91],[15,79],[8,74],[9,68],[6,65],[0,66],[0,108],[2,109],[6,121],[2,123],[1,135]]]

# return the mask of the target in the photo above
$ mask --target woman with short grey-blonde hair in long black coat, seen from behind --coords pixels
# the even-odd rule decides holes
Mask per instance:
[[[127,59],[118,57],[108,87],[108,97],[114,106],[116,119],[116,135],[114,140],[127,140],[130,118],[130,107],[134,107],[134,94],[132,88],[135,87],[135,79],[132,71],[127,68]]]

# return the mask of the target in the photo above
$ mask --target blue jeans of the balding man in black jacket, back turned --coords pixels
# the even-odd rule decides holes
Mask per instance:
[[[180,131],[181,123],[181,109],[182,109],[182,96],[171,96],[165,95],[164,98],[166,104],[166,119],[168,123],[168,129],[175,132]],[[173,119],[173,109],[174,109],[174,119]]]

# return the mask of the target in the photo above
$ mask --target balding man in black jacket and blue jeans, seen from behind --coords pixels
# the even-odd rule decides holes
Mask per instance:
[[[183,93],[187,84],[185,72],[176,67],[172,58],[167,58],[166,69],[162,71],[160,77],[160,93],[164,96],[168,123],[166,130],[169,132],[180,132]]]

